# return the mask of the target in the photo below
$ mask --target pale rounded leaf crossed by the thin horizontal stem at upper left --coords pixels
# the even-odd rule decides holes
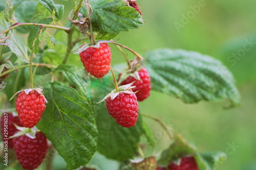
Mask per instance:
[[[15,19],[20,23],[30,22],[30,19],[33,17],[35,13],[35,8],[38,2],[35,1],[27,1],[19,4],[14,10]],[[29,33],[33,27],[31,26],[22,26],[17,27],[16,30],[20,33]]]

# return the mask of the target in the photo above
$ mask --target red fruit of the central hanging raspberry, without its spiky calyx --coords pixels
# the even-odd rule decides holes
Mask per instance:
[[[106,99],[106,108],[116,122],[124,128],[132,127],[138,118],[138,103],[135,94],[120,92],[115,99]]]

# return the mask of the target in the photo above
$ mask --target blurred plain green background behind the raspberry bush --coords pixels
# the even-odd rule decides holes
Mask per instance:
[[[61,21],[65,23],[73,2],[55,0],[55,3],[65,5],[65,19]],[[231,70],[242,95],[241,107],[224,110],[225,103],[188,105],[172,96],[152,91],[150,98],[139,103],[140,111],[162,118],[165,124],[174,132],[181,133],[199,151],[225,152],[228,157],[220,165],[220,170],[255,170],[256,1],[137,0],[137,3],[141,6],[145,25],[122,32],[114,40],[118,39],[118,43],[141,55],[167,47],[213,56]],[[177,22],[182,24],[179,29],[175,26]],[[112,52],[114,64],[124,62],[113,45]],[[134,57],[126,53],[131,59]],[[148,154],[160,153],[168,147],[167,135],[153,120],[144,120],[157,140],[156,148]],[[60,163],[65,164],[60,159],[55,161],[55,164]]]

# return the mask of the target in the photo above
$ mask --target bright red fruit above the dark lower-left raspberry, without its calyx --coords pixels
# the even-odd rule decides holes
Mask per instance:
[[[39,94],[36,90],[19,92],[16,99],[16,110],[19,121],[26,128],[33,128],[42,117],[46,109],[45,96]]]

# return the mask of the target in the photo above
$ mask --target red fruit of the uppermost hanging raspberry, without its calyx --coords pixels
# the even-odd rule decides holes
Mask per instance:
[[[107,43],[100,43],[99,48],[89,47],[80,53],[84,68],[96,78],[102,78],[109,73],[111,50]]]

